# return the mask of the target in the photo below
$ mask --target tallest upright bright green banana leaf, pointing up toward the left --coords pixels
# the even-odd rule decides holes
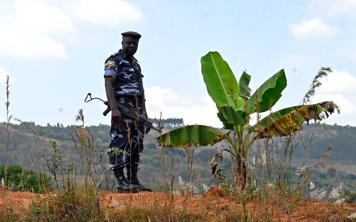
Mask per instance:
[[[232,73],[229,64],[218,52],[209,52],[201,57],[201,73],[208,94],[216,104],[216,108],[230,105],[234,110],[244,104],[244,99],[239,96],[239,85]],[[236,105],[233,97],[236,100]]]

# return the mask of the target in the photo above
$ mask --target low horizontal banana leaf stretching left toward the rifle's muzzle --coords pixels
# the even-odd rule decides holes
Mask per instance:
[[[227,137],[226,133],[220,130],[203,125],[184,126],[174,129],[156,138],[159,146],[163,147],[192,147],[196,145],[213,146]]]

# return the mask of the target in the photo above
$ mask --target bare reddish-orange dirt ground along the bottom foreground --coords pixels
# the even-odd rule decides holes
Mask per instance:
[[[31,192],[10,192],[6,191],[6,199],[4,200],[4,190],[0,189],[0,207],[13,204],[15,210],[27,208],[32,200],[36,200],[36,194]],[[277,196],[277,195],[276,195]],[[38,195],[37,195],[38,197]],[[45,195],[41,195],[45,198]],[[101,191],[99,194],[99,203],[101,209],[121,211],[126,206],[137,208],[150,208],[154,202],[162,207],[171,206],[173,210],[182,210],[194,213],[204,212],[208,213],[210,221],[220,221],[228,213],[243,212],[243,206],[239,200],[234,196],[225,194],[222,190],[215,187],[209,189],[206,195],[171,195],[160,192],[139,192],[134,194],[119,194],[116,192]],[[271,199],[271,198],[270,198]],[[288,203],[292,201],[291,196],[276,197],[273,201],[268,203],[261,202],[260,199],[255,198],[246,201],[245,211],[248,216],[251,216],[253,221],[259,221],[258,217],[263,215],[265,206],[268,207],[269,219],[271,221],[287,221],[288,219]],[[264,206],[264,207],[261,207]],[[341,216],[341,210],[347,210]],[[335,204],[331,202],[303,199],[293,207],[290,221],[347,221],[346,217],[351,213],[356,212],[356,204]],[[345,216],[346,215],[346,216]],[[255,220],[257,219],[257,220]],[[261,218],[262,220],[263,218]],[[349,220],[352,221],[352,220]]]

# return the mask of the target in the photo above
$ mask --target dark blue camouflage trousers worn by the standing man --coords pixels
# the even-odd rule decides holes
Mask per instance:
[[[135,124],[130,118],[123,118],[125,130],[119,130],[119,127],[111,120],[110,145],[109,148],[117,147],[121,152],[114,154],[109,152],[109,165],[112,170],[123,168],[125,166],[138,166],[140,164],[140,153],[143,150],[143,138],[145,137],[145,125]],[[122,150],[129,153],[123,160]]]

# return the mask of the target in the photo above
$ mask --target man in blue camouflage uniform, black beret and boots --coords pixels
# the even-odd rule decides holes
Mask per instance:
[[[122,49],[105,61],[105,91],[111,107],[109,162],[117,181],[117,192],[128,193],[138,190],[152,192],[152,189],[143,186],[137,177],[144,133],[147,134],[150,127],[121,115],[115,104],[118,102],[148,118],[142,85],[143,75],[137,59],[133,57],[141,35],[137,32],[124,32],[121,35]],[[125,161],[122,158],[123,150],[129,153]],[[124,167],[127,170],[127,179]]]

